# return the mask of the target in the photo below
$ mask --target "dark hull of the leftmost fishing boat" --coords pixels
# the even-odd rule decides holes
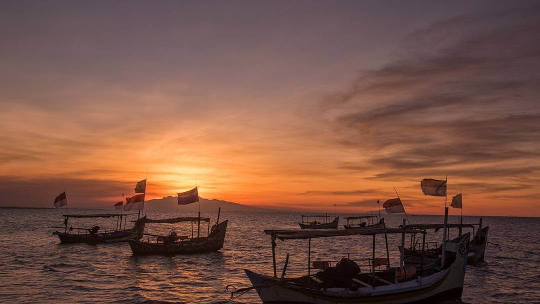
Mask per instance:
[[[60,243],[62,244],[103,244],[112,242],[124,242],[128,239],[139,240],[144,231],[144,223],[139,227],[126,229],[123,231],[114,231],[109,233],[96,233],[96,234],[72,234],[55,231],[52,234],[58,235]]]

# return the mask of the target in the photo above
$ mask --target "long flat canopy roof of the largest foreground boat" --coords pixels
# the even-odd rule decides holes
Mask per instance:
[[[266,234],[280,240],[313,239],[329,237],[345,237],[347,235],[375,235],[392,233],[424,233],[422,230],[409,228],[358,228],[341,230],[265,230]]]

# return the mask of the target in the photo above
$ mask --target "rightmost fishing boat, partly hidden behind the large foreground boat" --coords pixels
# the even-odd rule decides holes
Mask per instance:
[[[443,224],[411,224],[411,225],[405,225],[406,228],[411,229],[420,229],[424,232],[430,229],[434,229],[435,232],[437,232],[440,229],[443,229]],[[478,229],[475,232],[475,226],[478,226]],[[485,256],[485,248],[488,245],[488,232],[489,232],[489,226],[482,227],[482,219],[480,219],[480,222],[478,224],[447,224],[446,225],[448,231],[450,231],[450,228],[457,229],[457,235],[462,235],[463,229],[469,228],[472,229],[473,233],[470,235],[474,235],[474,238],[472,238],[469,241],[469,249],[468,249],[468,263],[474,264],[475,262],[482,262],[484,261]],[[416,238],[416,235],[411,235],[410,238],[410,245],[408,248],[401,248],[400,251],[403,251],[403,254],[405,256],[406,262],[413,262],[415,260],[418,260],[418,256],[420,256],[420,240]],[[441,242],[426,242],[425,243],[426,248],[424,249],[424,256],[426,258],[430,259],[437,259],[438,256],[441,255],[442,251],[442,244]]]

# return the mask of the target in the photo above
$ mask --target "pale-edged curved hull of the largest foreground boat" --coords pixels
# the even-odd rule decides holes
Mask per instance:
[[[468,237],[467,237],[468,238]],[[463,291],[467,266],[467,239],[453,244],[456,258],[452,264],[435,274],[392,285],[349,288],[316,289],[281,281],[245,269],[263,303],[311,304],[406,304],[433,303],[437,299],[458,299]]]

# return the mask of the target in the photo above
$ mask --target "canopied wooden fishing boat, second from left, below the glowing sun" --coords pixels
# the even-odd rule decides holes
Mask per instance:
[[[225,233],[227,231],[227,220],[219,222],[210,228],[210,218],[198,217],[183,217],[171,219],[147,219],[143,220],[145,224],[161,223],[161,224],[176,224],[179,222],[191,222],[191,238],[189,235],[178,235],[171,231],[168,235],[157,235],[142,233],[142,239],[129,239],[131,251],[133,255],[151,255],[151,254],[194,254],[204,252],[214,252],[223,248],[225,241]],[[205,237],[200,236],[200,223],[207,222],[208,230]],[[197,237],[194,236],[193,224],[197,223]]]

